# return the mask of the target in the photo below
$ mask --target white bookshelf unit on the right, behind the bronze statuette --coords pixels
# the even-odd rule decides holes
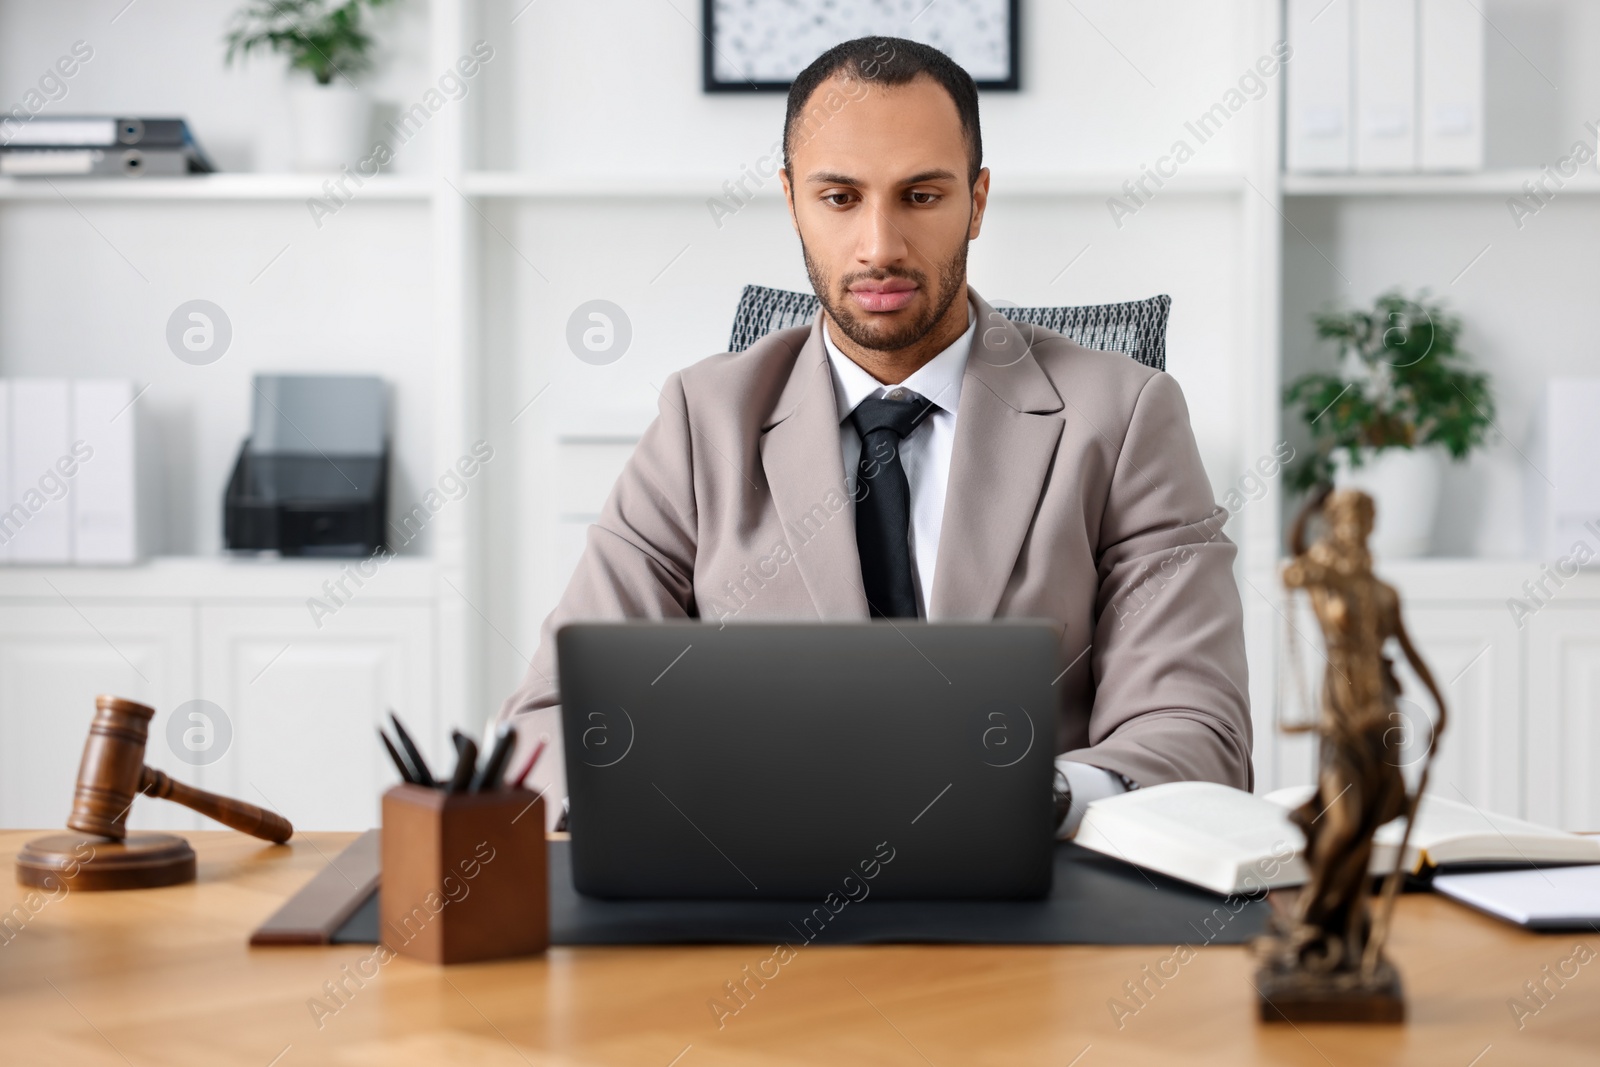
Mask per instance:
[[[1600,790],[1579,763],[1600,755],[1592,731],[1600,715],[1592,683],[1600,670],[1600,574],[1584,571],[1557,582],[1554,595],[1530,597],[1542,568],[1526,539],[1523,491],[1538,462],[1530,456],[1542,382],[1600,366],[1584,312],[1586,293],[1600,283],[1590,253],[1600,235],[1600,173],[1592,162],[1571,176],[1555,171],[1576,141],[1595,144],[1584,123],[1600,104],[1600,82],[1584,54],[1600,11],[1570,0],[1509,0],[1485,18],[1494,27],[1486,37],[1485,170],[1278,178],[1283,264],[1269,280],[1280,309],[1274,363],[1280,381],[1331,370],[1334,354],[1312,338],[1310,314],[1370,307],[1394,285],[1427,290],[1462,318],[1462,350],[1494,379],[1494,432],[1469,464],[1446,466],[1438,557],[1379,560],[1378,573],[1405,598],[1406,624],[1450,704],[1437,787],[1485,808],[1594,830]],[[1530,182],[1554,195],[1534,205]],[[1514,213],[1518,202],[1536,210]],[[1304,440],[1296,416],[1283,426],[1291,440]],[[1246,579],[1278,595],[1275,566],[1251,568]],[[1534,611],[1514,609],[1518,601]],[[1251,672],[1275,673],[1283,696],[1290,627],[1264,605],[1259,614],[1275,627],[1277,649],[1253,654]],[[1298,625],[1315,633],[1310,619]],[[1301,659],[1315,681],[1315,654]],[[1408,691],[1416,688],[1405,669],[1402,678]],[[1258,736],[1258,769],[1285,784],[1307,781],[1310,745]]]

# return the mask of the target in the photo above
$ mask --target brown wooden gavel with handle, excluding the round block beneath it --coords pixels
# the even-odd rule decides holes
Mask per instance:
[[[283,816],[243,800],[208,793],[144,765],[154,707],[117,696],[94,697],[94,721],[83,742],[78,785],[72,795],[67,825],[82,833],[122,841],[128,837],[126,817],[134,797],[149,793],[181,803],[240,833],[282,845],[294,833]]]

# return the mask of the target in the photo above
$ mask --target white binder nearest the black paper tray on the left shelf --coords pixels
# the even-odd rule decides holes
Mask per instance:
[[[139,405],[126,379],[72,382],[72,560],[139,560],[136,440]]]

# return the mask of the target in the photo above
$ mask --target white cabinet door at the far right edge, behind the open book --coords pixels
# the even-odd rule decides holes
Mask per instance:
[[[1528,817],[1600,830],[1600,611],[1528,619]]]

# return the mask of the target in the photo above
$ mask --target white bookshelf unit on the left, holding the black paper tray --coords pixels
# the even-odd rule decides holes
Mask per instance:
[[[141,565],[0,566],[0,749],[10,753],[0,825],[59,822],[56,793],[70,790],[93,694],[110,691],[157,707],[152,765],[230,795],[266,795],[299,829],[365,829],[392,777],[371,736],[378,715],[400,710],[443,761],[450,729],[475,733],[491,710],[475,606],[482,482],[432,514],[414,544],[394,537],[400,555],[366,561],[365,576],[360,560],[218,552],[222,483],[248,432],[248,379],[262,371],[390,381],[390,518],[482,432],[467,298],[477,216],[456,192],[466,122],[461,109],[434,115],[392,173],[349,181],[349,203],[318,226],[307,202],[326,200],[338,176],[230,166],[258,141],[258,158],[285,157],[282,64],[222,72],[222,8],[133,8],[112,34],[104,24],[115,11],[101,6],[8,5],[8,70],[45,69],[62,43],[93,40],[94,61],[69,85],[72,110],[186,114],[226,173],[0,179],[0,254],[10,256],[0,373],[150,384],[144,414],[163,461],[150,506],[166,522],[165,547]],[[403,99],[453,66],[474,6],[397,5],[374,96]],[[218,294],[232,349],[205,368],[171,358],[162,341],[170,310]],[[158,734],[192,699],[234,720],[232,750],[208,766],[176,761]],[[202,824],[168,808],[144,805],[131,822]]]

